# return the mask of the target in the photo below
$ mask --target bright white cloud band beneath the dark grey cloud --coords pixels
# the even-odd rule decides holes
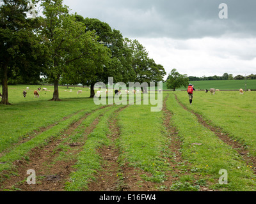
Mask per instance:
[[[189,76],[245,75],[256,71],[256,38],[138,38],[166,73],[176,68]],[[165,77],[166,78],[166,77]]]

